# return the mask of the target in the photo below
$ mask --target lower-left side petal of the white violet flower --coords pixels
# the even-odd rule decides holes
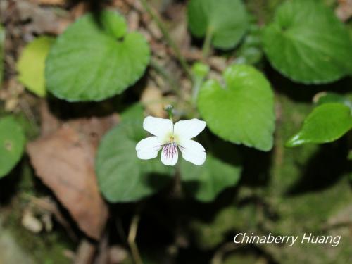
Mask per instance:
[[[147,137],[146,139],[142,139],[136,145],[137,157],[142,160],[156,158],[156,156],[158,156],[158,151],[162,146],[161,139],[158,137]]]

